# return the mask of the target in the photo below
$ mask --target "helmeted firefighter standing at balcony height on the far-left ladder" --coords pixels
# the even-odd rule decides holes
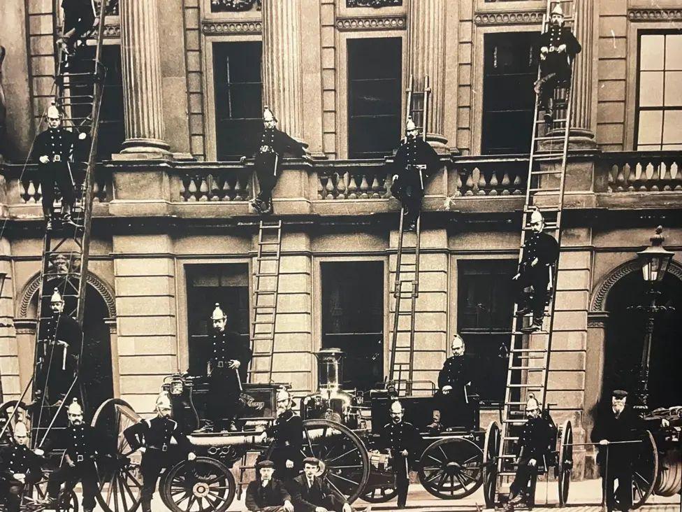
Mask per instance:
[[[52,206],[55,202],[55,184],[61,192],[61,218],[73,223],[71,208],[75,203],[73,173],[69,159],[78,141],[87,137],[85,132],[61,127],[61,113],[56,106],[48,108],[48,129],[36,136],[33,155],[38,159],[38,174],[43,193],[43,215],[47,229],[52,229]]]

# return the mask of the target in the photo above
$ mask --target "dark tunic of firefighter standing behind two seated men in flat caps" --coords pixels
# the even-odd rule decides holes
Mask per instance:
[[[289,481],[303,469],[303,420],[291,409],[277,416],[275,423],[266,430],[274,439],[270,460],[275,463],[275,475],[282,481]],[[286,461],[293,461],[293,468],[286,467]]]

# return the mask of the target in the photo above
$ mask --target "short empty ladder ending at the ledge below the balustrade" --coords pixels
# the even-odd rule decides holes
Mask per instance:
[[[275,359],[277,292],[280,287],[282,220],[263,221],[258,229],[258,255],[254,268],[254,315],[251,322],[253,359],[249,382],[270,383]]]

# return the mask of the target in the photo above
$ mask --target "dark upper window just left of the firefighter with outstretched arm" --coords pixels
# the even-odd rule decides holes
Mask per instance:
[[[261,53],[260,41],[213,44],[219,160],[247,155],[262,128]]]

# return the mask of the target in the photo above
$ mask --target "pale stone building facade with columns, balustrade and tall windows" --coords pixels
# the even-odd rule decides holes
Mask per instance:
[[[364,385],[361,360],[372,361],[372,376],[386,376],[400,207],[384,157],[402,131],[409,77],[419,89],[428,76],[427,132],[442,169],[424,201],[416,378],[435,381],[449,339],[462,332],[486,376],[484,414],[494,418],[530,141],[532,91],[514,86],[535,79],[532,36],[546,3],[119,3],[106,20],[107,131],[88,277],[86,322],[106,352],[96,396],[150,411],[164,376],[200,358],[193,346],[214,301],[248,332],[258,219],[247,205],[250,164],[235,158],[247,148],[235,141],[252,133],[262,105],[312,156],[286,160],[275,189],[284,222],[275,381],[314,390],[313,354],[328,346],[355,357],[351,385]],[[583,51],[548,401],[583,435],[602,389],[637,360],[618,360],[614,333],[627,322],[623,297],[641,288],[635,253],[656,225],[676,252],[665,300],[680,301],[682,10],[672,0],[576,6]],[[24,160],[51,94],[55,24],[51,0],[6,0],[0,19],[10,148],[0,167],[0,315],[13,324],[0,329],[5,400],[19,396],[33,364],[43,220]],[[679,317],[662,321],[668,350]],[[665,369],[665,351],[653,357]],[[665,391],[675,379],[662,378],[660,404],[679,401]]]

